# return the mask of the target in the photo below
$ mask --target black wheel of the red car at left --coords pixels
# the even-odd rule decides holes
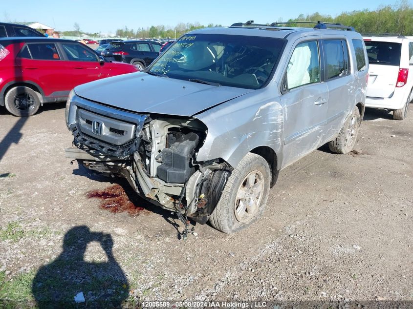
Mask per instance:
[[[39,110],[40,94],[29,87],[17,86],[7,91],[4,104],[14,116],[32,116]]]

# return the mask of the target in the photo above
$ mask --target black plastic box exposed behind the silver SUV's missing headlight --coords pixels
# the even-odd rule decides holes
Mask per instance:
[[[184,184],[195,172],[195,167],[190,162],[199,143],[199,136],[190,132],[178,138],[169,137],[168,142],[173,144],[164,148],[156,157],[156,161],[161,163],[156,174],[166,183]]]

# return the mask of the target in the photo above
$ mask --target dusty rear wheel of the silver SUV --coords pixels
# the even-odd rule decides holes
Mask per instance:
[[[328,143],[328,148],[332,152],[346,154],[353,150],[357,141],[361,124],[360,111],[354,106],[351,115],[345,121],[337,138]]]

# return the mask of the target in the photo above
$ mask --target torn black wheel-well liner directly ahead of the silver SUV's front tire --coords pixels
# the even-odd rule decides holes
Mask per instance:
[[[208,221],[208,216],[217,206],[229,176],[229,170],[216,170],[200,183],[196,212],[191,216],[196,222],[205,224]]]

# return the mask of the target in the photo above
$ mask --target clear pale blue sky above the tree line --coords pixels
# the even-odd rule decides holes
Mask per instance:
[[[99,33],[114,32],[125,26],[134,30],[159,24],[174,27],[179,22],[266,23],[317,11],[336,16],[343,11],[376,9],[395,3],[394,0],[0,0],[0,21],[38,21],[58,31],[73,30],[77,22],[83,31]]]

